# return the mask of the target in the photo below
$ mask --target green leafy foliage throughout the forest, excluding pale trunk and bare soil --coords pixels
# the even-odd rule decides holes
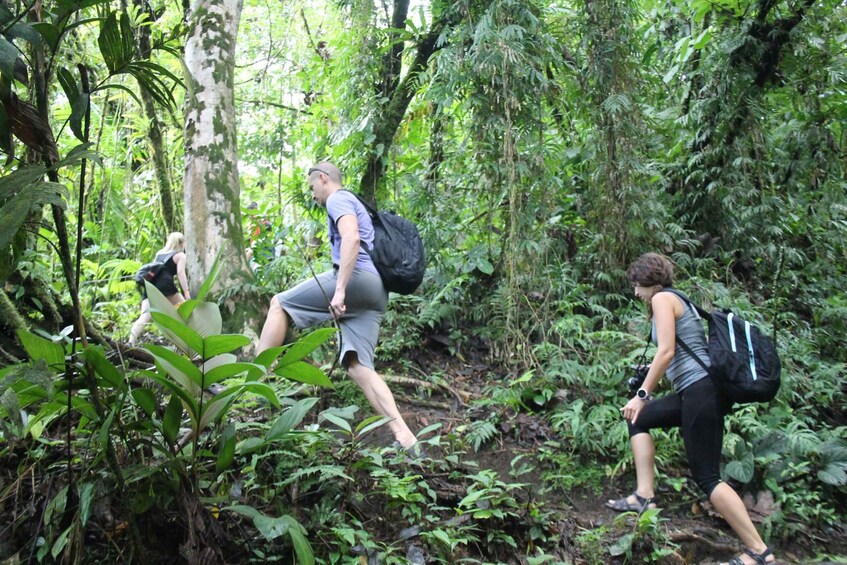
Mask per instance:
[[[725,476],[773,495],[779,510],[765,524],[769,535],[843,522],[843,3],[434,2],[396,22],[392,7],[245,4],[233,84],[240,188],[271,224],[257,246],[279,244],[282,254],[258,262],[255,284],[214,299],[270,295],[329,268],[323,216],[309,206],[303,173],[332,159],[346,186],[373,190],[382,207],[416,219],[427,246],[421,291],[392,297],[380,359],[449,379],[449,370],[406,357],[441,344],[457,362],[496,373],[469,412],[481,417],[451,428],[445,445],[484,454],[500,430],[538,418],[550,435],[539,470],[553,490],[599,491],[631,468],[618,409],[647,330],[623,269],[660,250],[692,297],[775,328],[783,388],[770,405],[727,419]],[[482,546],[529,555],[507,522],[529,530],[542,520],[507,503],[508,483],[451,475],[488,493],[486,501],[490,494],[496,504],[485,504],[502,513],[480,518],[484,526],[454,521],[426,480],[398,470],[398,454],[370,447],[383,421],[356,421],[354,410],[325,400],[311,415],[313,387],[331,384],[306,356],[322,352],[332,330],[245,360],[235,356],[248,338],[220,335],[219,310],[204,291],[179,309],[155,297],[155,321],[171,345],[151,345],[154,366],[135,371],[63,329],[71,297],[54,252],[62,231],[68,249],[80,249],[73,267],[93,329],[120,338],[138,314],[125,277],[167,228],[137,93],[140,85],[164,109],[178,186],[184,14],[177,4],[148,14],[98,0],[30,12],[0,9],[0,148],[8,157],[0,273],[34,328],[2,344],[4,358],[31,361],[0,369],[0,454],[52,473],[62,457],[55,440],[70,437],[77,459],[67,467],[86,477],[77,489],[57,482],[33,494],[53,522],[73,516],[70,527],[45,522],[35,554],[70,560],[99,493],[122,488],[121,510],[140,520],[170,516],[186,491],[243,510],[224,511],[221,521],[247,519],[239,527],[258,532],[246,551],[258,562],[283,560],[280,544],[305,551],[298,534],[327,562],[344,562],[357,546],[361,557],[400,561],[400,544],[369,530],[357,506],[365,502],[350,498],[354,485],[367,484],[404,525],[426,526],[421,543],[435,560],[468,560]],[[150,52],[134,40],[141,30],[150,31]],[[429,40],[423,71],[410,73]],[[404,77],[408,107],[388,131],[392,85]],[[95,145],[79,146],[87,123]],[[375,165],[382,179],[362,187]],[[57,219],[53,206],[67,216]],[[222,389],[204,392],[211,384]],[[363,402],[354,384],[339,388],[334,398]],[[680,491],[681,440],[657,440],[667,473],[660,480]],[[243,496],[228,496],[239,489]],[[462,516],[485,510],[468,502]],[[615,546],[619,557],[659,558],[669,547],[661,520],[648,518]],[[607,535],[580,536],[582,557],[608,562]],[[491,551],[489,561],[508,560]]]

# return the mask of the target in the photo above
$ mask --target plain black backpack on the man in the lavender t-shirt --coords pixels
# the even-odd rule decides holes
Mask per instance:
[[[417,226],[394,211],[378,212],[357,194],[351,194],[362,203],[373,222],[373,249],[368,249],[364,241],[362,247],[379,271],[385,290],[412,294],[421,285],[426,271],[426,255]]]

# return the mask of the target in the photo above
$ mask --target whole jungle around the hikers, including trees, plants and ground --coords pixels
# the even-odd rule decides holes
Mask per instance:
[[[4,0],[0,100],[0,562],[726,560],[676,431],[661,511],[602,508],[645,251],[775,335],[723,472],[781,560],[847,559],[842,0]],[[423,460],[332,328],[254,353],[329,265],[321,159],[425,240],[377,350]],[[193,300],[130,348],[171,231]]]

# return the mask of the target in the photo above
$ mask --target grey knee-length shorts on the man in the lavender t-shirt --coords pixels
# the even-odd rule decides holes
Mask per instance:
[[[298,328],[327,322],[332,320],[327,299],[332,300],[335,294],[335,280],[335,271],[327,271],[318,275],[317,281],[314,277],[307,279],[277,294],[276,299]],[[379,324],[388,306],[388,293],[382,286],[382,279],[370,271],[354,269],[347,283],[344,304],[347,313],[339,320],[342,363],[346,367],[347,353],[355,351],[359,363],[373,369]]]

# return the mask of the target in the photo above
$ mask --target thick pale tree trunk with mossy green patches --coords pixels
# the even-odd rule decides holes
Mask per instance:
[[[185,241],[194,293],[220,254],[212,293],[252,278],[241,232],[233,82],[241,0],[199,0],[185,43]],[[252,334],[258,312],[238,296],[224,303],[231,331]]]

